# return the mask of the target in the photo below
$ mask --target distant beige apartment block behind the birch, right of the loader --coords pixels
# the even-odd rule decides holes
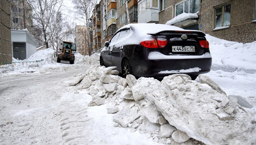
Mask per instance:
[[[88,44],[86,26],[75,26],[75,44],[76,50],[82,55],[88,55]]]

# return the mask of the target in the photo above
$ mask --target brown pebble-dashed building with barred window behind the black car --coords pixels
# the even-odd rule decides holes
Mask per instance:
[[[196,13],[197,18],[187,17],[171,25],[201,30],[229,41],[256,41],[256,0],[170,0],[164,3],[159,23],[165,24],[182,13]]]

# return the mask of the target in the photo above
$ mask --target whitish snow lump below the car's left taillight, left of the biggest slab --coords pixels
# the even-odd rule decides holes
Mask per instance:
[[[159,89],[160,85],[161,82],[154,78],[140,77],[132,87],[134,100],[139,101],[143,99],[145,93]]]

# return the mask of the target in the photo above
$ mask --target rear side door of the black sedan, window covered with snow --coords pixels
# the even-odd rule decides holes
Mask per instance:
[[[113,47],[112,55],[112,62],[113,65],[116,66],[116,70],[121,70],[121,61],[122,61],[122,53],[123,53],[123,42],[126,41],[129,29],[123,29],[118,32],[118,41]]]

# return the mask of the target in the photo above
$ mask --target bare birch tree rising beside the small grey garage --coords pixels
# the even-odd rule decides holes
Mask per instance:
[[[49,40],[54,31],[49,29],[54,13],[61,12],[63,0],[27,0],[33,9],[35,29],[39,29],[43,34],[43,41],[46,48],[49,48]],[[55,23],[56,25],[56,23]]]

